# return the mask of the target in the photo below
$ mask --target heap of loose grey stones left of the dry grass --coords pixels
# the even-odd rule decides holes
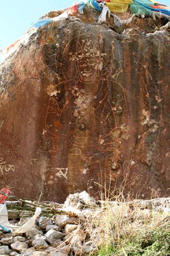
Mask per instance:
[[[90,254],[96,246],[85,226],[88,215],[93,215],[99,206],[94,198],[84,191],[69,195],[61,207],[67,211],[67,214],[57,214],[52,219],[41,216],[35,227],[22,236],[1,232],[0,255]]]

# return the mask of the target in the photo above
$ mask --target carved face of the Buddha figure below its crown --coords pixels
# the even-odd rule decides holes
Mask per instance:
[[[83,83],[93,83],[99,72],[98,60],[95,56],[84,56],[78,60],[80,80]]]

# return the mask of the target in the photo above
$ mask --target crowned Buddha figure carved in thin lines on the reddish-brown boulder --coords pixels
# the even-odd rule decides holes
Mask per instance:
[[[106,58],[98,42],[90,39],[67,46],[61,64],[58,58],[61,80],[50,93],[45,129],[51,140],[51,164],[67,168],[72,185],[75,171],[90,178],[112,165],[109,156],[121,123],[124,92],[111,80]],[[68,192],[73,192],[71,185]]]

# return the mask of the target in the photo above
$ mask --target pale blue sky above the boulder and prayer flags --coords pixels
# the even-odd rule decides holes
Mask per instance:
[[[0,49],[15,42],[30,25],[50,10],[69,7],[75,0],[0,0]],[[170,0],[157,0],[170,5]],[[77,0],[77,2],[79,2]]]

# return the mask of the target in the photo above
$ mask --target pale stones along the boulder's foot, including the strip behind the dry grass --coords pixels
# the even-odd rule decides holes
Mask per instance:
[[[105,210],[102,207],[104,203],[96,202],[85,191],[69,195],[64,205],[61,205],[67,214],[55,214],[51,219],[41,216],[34,228],[22,235],[0,232],[0,255],[89,255],[100,244],[101,227],[98,223]],[[119,207],[124,209],[124,218],[133,207],[141,211],[170,213],[170,198],[134,200],[128,203],[112,201],[107,204],[113,213]]]

